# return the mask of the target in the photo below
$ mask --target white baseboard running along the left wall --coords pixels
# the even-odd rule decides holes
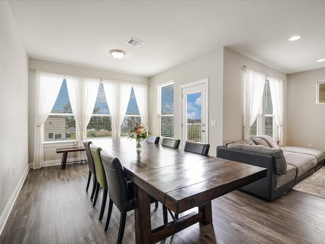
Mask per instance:
[[[29,167],[27,165],[25,171],[23,172],[22,176],[20,177],[19,181],[18,181],[18,184],[13,192],[13,194],[11,195],[10,199],[9,199],[9,202],[7,203],[7,206],[5,207],[5,210],[3,211],[2,215],[0,216],[0,235],[2,234],[4,228],[5,228],[5,225],[7,223],[7,220],[9,218],[9,215],[10,215],[10,212],[16,202],[16,199],[18,197],[18,194],[25,182],[25,179],[26,179],[26,176],[28,174],[28,171],[29,171]]]

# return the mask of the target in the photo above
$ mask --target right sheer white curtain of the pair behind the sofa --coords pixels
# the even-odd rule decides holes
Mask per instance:
[[[273,113],[279,127],[279,146],[283,143],[283,80],[269,77]]]

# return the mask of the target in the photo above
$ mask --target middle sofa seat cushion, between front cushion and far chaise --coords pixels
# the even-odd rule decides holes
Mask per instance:
[[[293,165],[297,168],[296,177],[307,172],[317,164],[316,158],[308,154],[298,154],[291,151],[283,151],[283,155],[287,164]]]

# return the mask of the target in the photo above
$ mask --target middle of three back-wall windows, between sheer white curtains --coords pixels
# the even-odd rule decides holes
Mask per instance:
[[[98,87],[96,103],[87,126],[89,137],[112,137],[112,118],[102,83]]]

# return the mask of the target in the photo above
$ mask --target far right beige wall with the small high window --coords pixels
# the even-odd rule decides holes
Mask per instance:
[[[325,104],[316,104],[316,82],[325,68],[288,75],[288,145],[325,151]]]

